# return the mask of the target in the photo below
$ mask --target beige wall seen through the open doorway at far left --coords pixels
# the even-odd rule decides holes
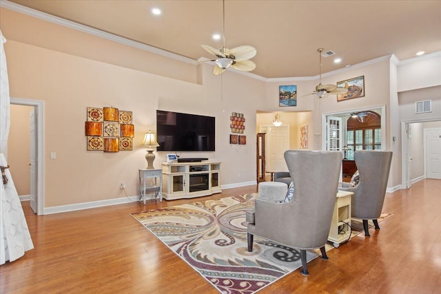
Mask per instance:
[[[19,196],[30,194],[30,120],[34,107],[11,105],[8,137],[8,165]]]

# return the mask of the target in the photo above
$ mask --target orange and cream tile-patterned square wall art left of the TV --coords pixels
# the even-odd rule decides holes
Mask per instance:
[[[114,107],[88,107],[85,136],[90,151],[133,150],[134,125],[132,112]]]

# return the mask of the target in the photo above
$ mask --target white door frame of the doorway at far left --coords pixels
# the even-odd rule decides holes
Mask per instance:
[[[34,198],[34,213],[42,216],[44,214],[44,178],[43,178],[43,108],[44,102],[38,100],[31,99],[23,99],[23,98],[10,98],[11,105],[25,105],[34,107],[34,132],[35,136],[34,141],[31,142],[32,152],[34,152],[34,165],[33,171],[30,179],[31,186],[31,198]],[[30,146],[30,148],[31,148]],[[32,185],[34,184],[34,187]],[[34,191],[32,191],[32,189]],[[34,196],[32,196],[34,193]]]

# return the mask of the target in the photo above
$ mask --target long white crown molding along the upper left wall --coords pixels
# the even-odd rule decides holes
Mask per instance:
[[[141,49],[147,52],[151,52],[154,54],[158,54],[161,56],[168,57],[170,59],[175,59],[177,61],[182,61],[185,63],[190,63],[192,65],[198,65],[198,62],[194,59],[190,59],[188,57],[175,54],[172,52],[168,52],[144,43],[140,43],[137,41],[133,41],[130,39],[123,38],[122,36],[116,36],[115,34],[110,34],[108,32],[104,32],[102,30],[97,30],[95,28],[90,28],[87,25],[81,25],[80,23],[75,23],[74,21],[68,21],[67,19],[62,19],[61,17],[55,17],[52,14],[48,14],[45,12],[41,12],[38,10],[34,10],[32,8],[27,8],[25,6],[21,6],[17,3],[12,3],[7,0],[0,0],[0,7],[7,8],[9,10],[13,10],[16,12],[20,12],[30,17],[35,17],[37,19],[42,19],[43,21],[49,21],[51,23],[56,23],[57,25],[63,25],[66,28],[71,28],[73,30],[78,30],[80,32],[85,32],[87,34],[92,34],[93,36],[99,36],[100,38],[107,39],[110,41],[114,41],[116,43],[121,43],[123,45],[127,45],[136,49]]]

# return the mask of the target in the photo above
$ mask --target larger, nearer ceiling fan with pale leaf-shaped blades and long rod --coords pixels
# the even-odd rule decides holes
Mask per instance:
[[[216,49],[209,45],[201,46],[217,57],[217,59],[211,60],[216,63],[213,74],[222,74],[230,66],[243,72],[251,72],[256,68],[256,63],[249,60],[256,56],[256,48],[250,45],[238,46],[232,49],[225,47],[225,0],[223,0],[223,47]]]

